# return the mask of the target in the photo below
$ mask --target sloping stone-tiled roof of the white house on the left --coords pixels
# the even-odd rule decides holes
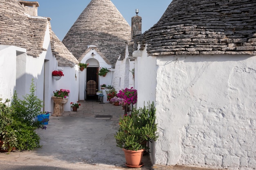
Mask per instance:
[[[0,44],[25,48],[27,54],[38,57],[46,49],[43,41],[49,18],[30,16],[25,14],[18,0],[0,1]],[[62,42],[50,29],[52,52],[55,54],[58,65],[74,66],[78,61],[65,48]]]

